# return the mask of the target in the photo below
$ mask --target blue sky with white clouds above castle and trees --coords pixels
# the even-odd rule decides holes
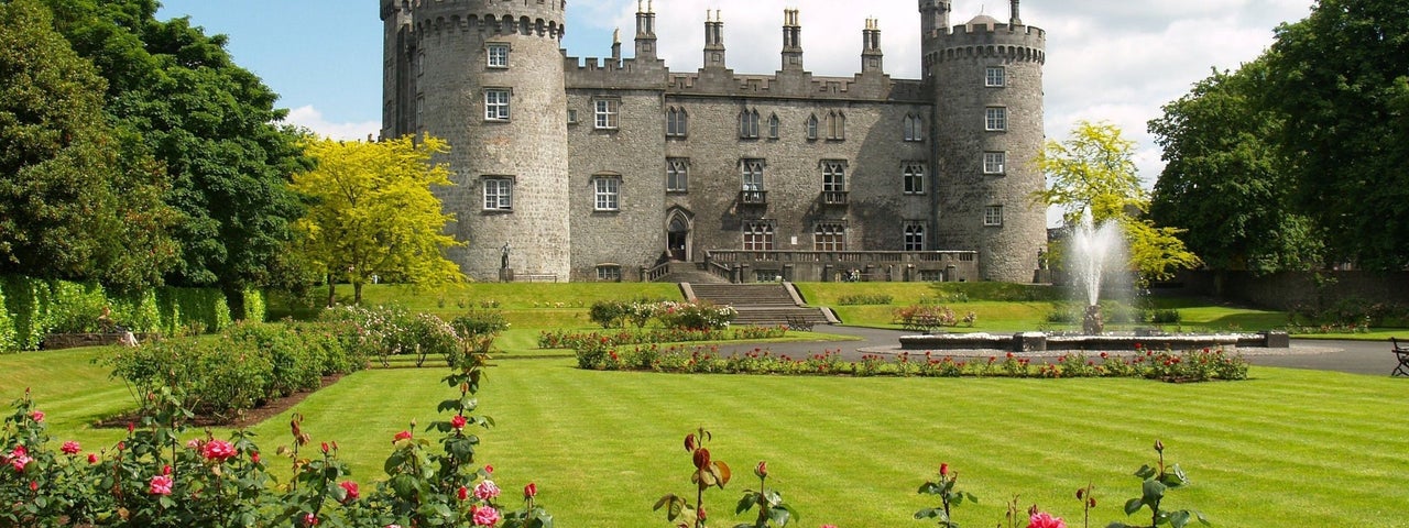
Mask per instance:
[[[189,15],[230,37],[235,62],[280,94],[287,121],[342,139],[380,130],[382,21],[375,0],[161,0],[158,18]],[[1076,121],[1109,121],[1136,141],[1136,166],[1153,186],[1164,162],[1146,122],[1213,69],[1237,69],[1272,42],[1272,30],[1310,14],[1313,0],[1027,0],[1022,18],[1047,30],[1047,137]],[[654,0],[659,55],[675,72],[700,68],[706,11],[724,21],[728,66],[781,66],[785,8],[799,8],[805,66],[820,76],[861,68],[867,18],[881,24],[886,73],[919,79],[916,0]],[[635,35],[637,0],[568,0],[569,56],[609,56],[621,28]],[[955,0],[951,24],[978,14],[1007,20],[1006,0]]]

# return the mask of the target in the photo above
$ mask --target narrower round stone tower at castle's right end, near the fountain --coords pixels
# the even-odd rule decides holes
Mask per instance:
[[[920,11],[938,246],[976,249],[985,280],[1031,282],[1047,245],[1045,207],[1031,201],[1045,186],[1034,163],[1045,139],[1045,32],[1020,21],[1017,0],[1006,24],[978,15],[948,27],[947,0],[921,0]]]

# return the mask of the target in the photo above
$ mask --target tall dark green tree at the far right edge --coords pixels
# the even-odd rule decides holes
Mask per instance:
[[[1270,106],[1298,201],[1336,260],[1409,266],[1409,3],[1320,0],[1277,28]]]

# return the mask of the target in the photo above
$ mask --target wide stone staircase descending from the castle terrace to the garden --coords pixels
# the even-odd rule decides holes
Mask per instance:
[[[692,301],[702,300],[734,307],[738,310],[734,324],[740,325],[783,325],[788,324],[789,318],[807,324],[838,322],[827,308],[805,307],[792,283],[682,283],[681,289]]]

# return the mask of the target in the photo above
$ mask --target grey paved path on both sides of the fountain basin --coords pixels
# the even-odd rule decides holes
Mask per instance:
[[[845,360],[859,360],[864,353],[895,348],[902,335],[914,334],[912,331],[840,325],[817,325],[814,329],[824,334],[854,337],[857,341],[755,344],[721,346],[720,352],[728,355],[764,348],[775,355],[805,358],[831,351],[840,352]],[[1336,370],[1354,375],[1388,376],[1396,365],[1395,355],[1389,353],[1389,341],[1292,339],[1289,349],[1246,349],[1246,352],[1247,360],[1253,365]]]

